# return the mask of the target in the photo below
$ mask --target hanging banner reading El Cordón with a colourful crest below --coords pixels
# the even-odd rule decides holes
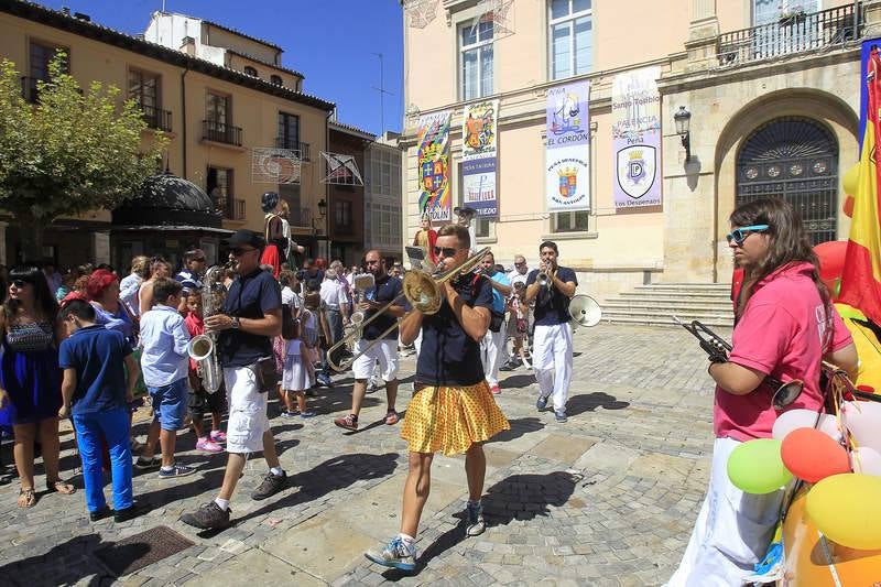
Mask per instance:
[[[590,84],[547,90],[545,207],[547,211],[590,209]]]

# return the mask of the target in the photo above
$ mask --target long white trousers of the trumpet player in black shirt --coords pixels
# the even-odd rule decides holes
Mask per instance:
[[[542,398],[553,396],[554,410],[565,411],[572,382],[572,326],[536,324],[532,339],[532,368]]]

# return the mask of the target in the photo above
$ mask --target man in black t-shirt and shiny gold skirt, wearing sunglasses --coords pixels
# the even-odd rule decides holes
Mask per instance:
[[[434,247],[438,269],[446,271],[464,263],[470,246],[466,227],[442,227]],[[486,528],[480,503],[487,470],[482,443],[510,428],[483,379],[480,362],[492,286],[486,278],[469,273],[440,284],[439,290],[443,301],[436,313],[424,314],[415,307],[400,325],[405,345],[420,329],[423,331],[413,399],[401,431],[410,450],[401,533],[383,547],[365,553],[374,563],[402,570],[416,566],[414,543],[428,498],[434,453],[465,453],[469,493],[466,533],[476,536]]]

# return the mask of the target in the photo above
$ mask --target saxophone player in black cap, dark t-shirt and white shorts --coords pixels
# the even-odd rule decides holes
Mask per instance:
[[[222,314],[205,318],[205,327],[219,333],[215,352],[224,368],[227,389],[229,458],[217,499],[181,517],[184,523],[202,529],[229,525],[229,500],[249,454],[262,450],[270,467],[251,498],[265,499],[287,483],[267,418],[268,384],[258,362],[268,358],[274,370],[272,338],[282,333],[281,289],[272,273],[260,269],[260,254],[265,246],[261,235],[242,229],[226,244],[238,276],[229,287]]]

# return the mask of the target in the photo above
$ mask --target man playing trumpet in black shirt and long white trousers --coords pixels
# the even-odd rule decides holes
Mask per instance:
[[[526,302],[535,301],[532,367],[539,382],[540,412],[547,407],[553,395],[557,422],[566,422],[566,400],[572,381],[572,326],[569,298],[575,295],[578,280],[575,271],[557,265],[556,242],[539,247],[541,264],[526,278]]]

